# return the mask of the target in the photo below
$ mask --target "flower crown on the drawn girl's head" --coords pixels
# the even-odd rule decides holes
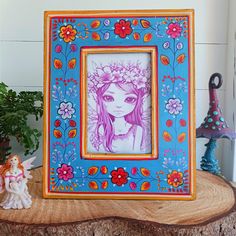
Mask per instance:
[[[88,89],[96,92],[108,83],[131,83],[136,89],[144,93],[150,91],[150,67],[141,67],[140,62],[121,63],[113,62],[108,65],[94,64],[94,71],[88,73]]]

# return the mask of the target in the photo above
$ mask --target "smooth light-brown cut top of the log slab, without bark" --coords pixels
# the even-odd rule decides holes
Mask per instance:
[[[235,192],[232,186],[224,179],[203,171],[197,171],[197,199],[195,201],[43,199],[42,169],[38,168],[32,172],[33,180],[29,182],[30,193],[33,197],[32,208],[29,210],[0,209],[0,229],[1,226],[4,228],[8,224],[12,225],[7,229],[12,229],[12,226],[17,226],[17,223],[20,223],[18,225],[22,227],[26,224],[33,227],[40,226],[42,229],[43,226],[64,225],[66,228],[73,225],[82,227],[84,224],[91,226],[94,222],[100,222],[101,227],[102,224],[106,225],[110,221],[108,225],[113,229],[112,225],[115,221],[119,221],[119,225],[121,222],[124,224],[139,222],[140,227],[142,223],[143,225],[148,223],[156,226],[168,224],[177,228],[179,226],[191,228],[193,225],[198,227],[214,223],[215,220],[230,215],[235,209]]]

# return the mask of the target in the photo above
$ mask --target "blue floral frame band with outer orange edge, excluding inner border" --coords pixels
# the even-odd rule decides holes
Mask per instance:
[[[80,158],[80,48],[105,45],[158,47],[156,160]],[[45,12],[44,51],[44,197],[195,198],[193,10]]]

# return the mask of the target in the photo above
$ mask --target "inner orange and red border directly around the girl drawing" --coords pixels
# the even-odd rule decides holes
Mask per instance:
[[[87,152],[87,56],[88,54],[149,53],[151,59],[151,142],[152,151],[148,154],[110,154]],[[158,158],[158,48],[157,46],[86,46],[80,50],[81,92],[80,122],[81,158],[87,160],[153,160]]]

